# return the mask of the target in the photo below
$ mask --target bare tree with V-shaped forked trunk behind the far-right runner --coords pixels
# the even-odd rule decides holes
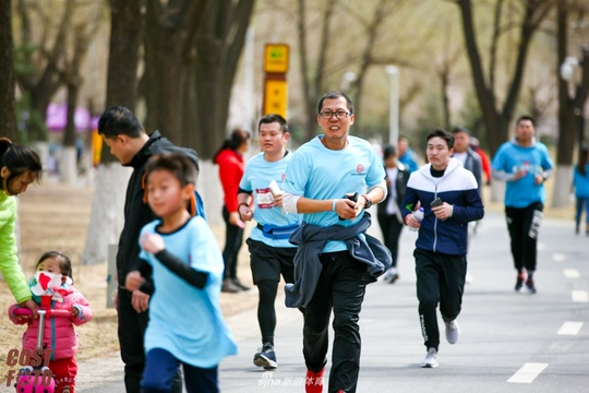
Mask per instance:
[[[470,62],[472,81],[479,104],[481,105],[483,121],[486,127],[486,135],[491,153],[494,154],[498,146],[505,142],[509,133],[509,122],[514,116],[517,99],[519,97],[524,81],[524,71],[528,50],[530,48],[533,34],[544,20],[551,7],[552,0],[526,0],[524,1],[524,15],[519,23],[519,41],[513,50],[516,61],[513,66],[513,73],[507,85],[507,95],[503,105],[498,104],[497,87],[495,86],[496,72],[496,48],[501,37],[501,17],[503,0],[495,3],[495,19],[490,52],[489,76],[483,70],[483,60],[474,31],[472,3],[470,0],[457,0],[462,19],[462,32],[466,43],[466,50]]]

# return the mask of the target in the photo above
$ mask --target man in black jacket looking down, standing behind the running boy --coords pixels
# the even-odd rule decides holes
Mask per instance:
[[[183,152],[199,168],[199,158],[194,151],[177,147],[159,131],[148,135],[137,118],[125,107],[115,106],[100,116],[98,133],[110,147],[110,153],[123,166],[133,168],[124,201],[124,226],[119,239],[117,252],[117,274],[119,279],[118,315],[119,343],[124,362],[124,385],[128,393],[141,391],[141,378],[145,367],[143,336],[147,326],[147,308],[153,285],[144,284],[140,289],[129,291],[124,288],[127,274],[139,265],[139,235],[141,228],[156,216],[144,199],[143,175],[145,164],[156,154]],[[175,378],[173,392],[182,392],[180,373]]]

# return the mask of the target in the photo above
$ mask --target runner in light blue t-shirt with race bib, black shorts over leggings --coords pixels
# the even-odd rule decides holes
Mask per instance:
[[[278,367],[274,352],[276,311],[274,302],[280,274],[287,283],[293,279],[294,245],[288,241],[301,223],[300,214],[283,210],[280,186],[292,153],[286,148],[290,138],[287,121],[280,115],[266,115],[257,123],[261,152],[245,165],[239,183],[238,213],[243,221],[254,218],[257,225],[247,240],[251,254],[253,282],[260,293],[257,323],[262,348],[254,355],[254,365],[273,370]]]

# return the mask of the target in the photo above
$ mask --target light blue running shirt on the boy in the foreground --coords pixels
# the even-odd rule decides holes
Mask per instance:
[[[141,235],[156,234],[158,225],[160,221],[147,224]],[[201,216],[192,217],[175,233],[158,235],[167,251],[195,270],[208,273],[208,279],[199,289],[142,248],[140,258],[152,265],[156,287],[149,300],[145,353],[161,348],[191,366],[215,367],[227,355],[237,354],[219,306],[224,263],[217,239]]]

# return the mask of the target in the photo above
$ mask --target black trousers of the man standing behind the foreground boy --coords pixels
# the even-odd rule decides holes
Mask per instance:
[[[119,288],[119,345],[124,362],[124,388],[127,393],[141,393],[141,379],[145,368],[143,336],[149,320],[147,312],[136,312],[131,303],[132,293]],[[182,374],[178,369],[172,382],[172,392],[182,393]]]

